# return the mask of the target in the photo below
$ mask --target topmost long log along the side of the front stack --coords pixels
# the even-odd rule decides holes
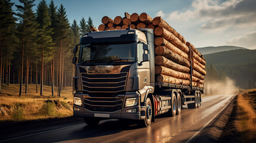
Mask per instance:
[[[169,32],[174,34],[178,39],[180,39],[181,42],[186,43],[183,36],[178,34],[178,32],[176,32],[176,30],[174,30],[171,26],[169,26],[169,24],[166,23],[161,17],[155,17],[152,21],[152,24],[155,25],[155,26],[164,27],[166,30],[168,30]]]

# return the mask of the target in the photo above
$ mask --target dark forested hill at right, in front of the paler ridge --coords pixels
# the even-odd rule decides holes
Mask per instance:
[[[203,57],[205,57],[206,66],[212,63],[220,73],[234,79],[240,88],[256,86],[256,49],[243,48],[215,52]]]

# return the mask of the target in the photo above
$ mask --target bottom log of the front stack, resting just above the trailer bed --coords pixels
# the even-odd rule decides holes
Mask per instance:
[[[189,80],[177,79],[175,77],[165,76],[163,74],[158,75],[158,77],[156,77],[156,80],[158,82],[172,83],[177,85],[190,85]]]

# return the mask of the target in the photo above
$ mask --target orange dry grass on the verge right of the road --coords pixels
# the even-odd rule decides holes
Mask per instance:
[[[241,133],[241,142],[256,141],[256,114],[253,108],[255,107],[256,94],[250,94],[254,93],[253,91],[256,91],[256,89],[243,91],[238,95],[238,120],[236,125],[238,125],[238,130]]]

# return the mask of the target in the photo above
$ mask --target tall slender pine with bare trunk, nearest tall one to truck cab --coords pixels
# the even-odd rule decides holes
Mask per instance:
[[[60,97],[60,91],[61,91],[61,87],[62,87],[62,73],[61,71],[63,71],[63,69],[61,69],[61,67],[63,67],[63,65],[61,64],[61,60],[63,60],[63,58],[61,56],[62,52],[63,52],[63,41],[64,39],[67,38],[67,33],[69,32],[69,20],[67,19],[67,15],[66,15],[66,9],[63,7],[63,5],[60,5],[60,8],[58,8],[58,13],[57,13],[57,30],[56,30],[56,34],[58,37],[58,46],[59,48],[59,61],[58,61],[58,96]]]

